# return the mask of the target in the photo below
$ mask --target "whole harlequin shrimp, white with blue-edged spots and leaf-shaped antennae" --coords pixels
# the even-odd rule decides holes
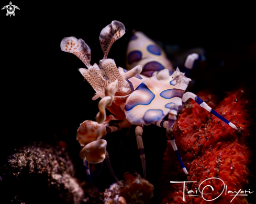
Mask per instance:
[[[119,21],[112,21],[101,31],[99,42],[104,56],[99,61],[99,65],[90,64],[91,49],[82,39],[68,37],[61,41],[61,50],[75,54],[87,67],[87,69],[80,68],[79,71],[96,92],[92,100],[101,98],[98,103],[99,112],[96,115],[96,122],[84,121],[77,130],[77,139],[82,147],[80,157],[84,160],[87,174],[90,177],[90,163],[98,164],[106,159],[110,172],[118,181],[106,151],[107,142],[103,138],[106,134],[121,128],[137,125],[135,134],[143,177],[146,178],[142,133],[143,125],[150,124],[166,128],[166,138],[170,141],[183,171],[188,174],[172,134],[177,111],[184,102],[192,98],[232,128],[237,130],[237,127],[211,109],[194,93],[185,93],[191,79],[187,78],[179,68],[174,71],[161,47],[142,32],[136,32],[129,42],[128,70],[117,68],[114,59],[109,59],[107,56],[112,44],[124,34],[125,26]],[[191,69],[198,57],[198,54],[189,55],[185,67]],[[106,109],[113,115],[107,116]],[[165,116],[168,120],[164,120]],[[116,121],[116,123],[111,126],[110,121]]]

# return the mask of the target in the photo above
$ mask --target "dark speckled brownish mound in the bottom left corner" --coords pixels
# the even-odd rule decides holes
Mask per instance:
[[[82,185],[74,177],[73,163],[63,148],[31,143],[8,157],[0,175],[3,203],[79,204],[97,200],[96,189]]]

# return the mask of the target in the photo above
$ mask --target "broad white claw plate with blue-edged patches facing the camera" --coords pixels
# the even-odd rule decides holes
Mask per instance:
[[[142,79],[126,101],[127,120],[131,124],[150,125],[163,119],[173,104],[175,108],[182,105],[182,96],[190,80],[179,69],[171,76],[164,69],[151,78]]]

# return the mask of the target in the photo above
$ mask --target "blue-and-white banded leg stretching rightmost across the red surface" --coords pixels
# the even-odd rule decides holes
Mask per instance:
[[[197,95],[195,95],[194,93],[192,93],[192,92],[184,93],[184,95],[182,97],[182,102],[187,101],[189,98],[195,100],[201,107],[203,107],[205,110],[209,111],[210,113],[214,114],[216,117],[221,119],[221,121],[227,123],[230,127],[238,130],[237,127],[234,124],[232,124],[226,118],[224,118],[220,114],[218,114],[215,110],[213,110],[210,106],[208,106],[202,99],[197,97]]]

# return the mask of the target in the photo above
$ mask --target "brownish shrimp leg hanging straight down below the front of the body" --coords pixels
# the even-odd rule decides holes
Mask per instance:
[[[137,125],[137,127],[135,128],[135,135],[136,135],[137,145],[138,145],[140,159],[142,163],[143,178],[146,179],[146,160],[145,160],[143,141],[141,137],[142,133],[143,133],[143,125]]]

